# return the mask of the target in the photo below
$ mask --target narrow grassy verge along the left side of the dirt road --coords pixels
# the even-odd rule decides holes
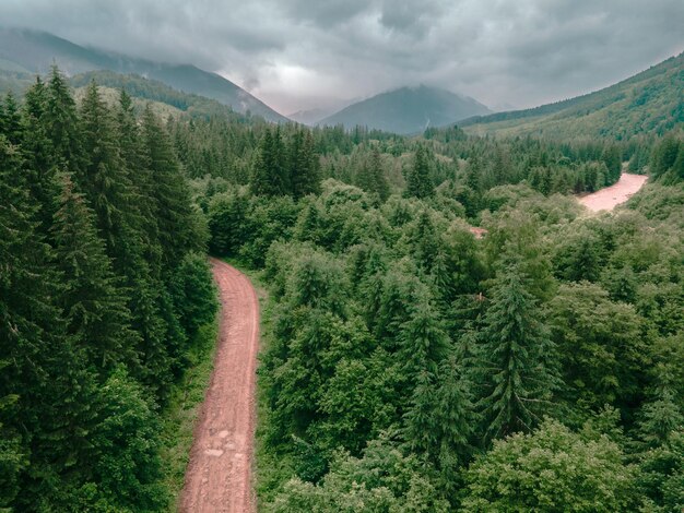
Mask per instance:
[[[182,379],[174,386],[168,406],[162,411],[162,461],[170,496],[168,511],[178,510],[178,498],[190,458],[192,434],[204,393],[214,368],[219,315],[198,331],[188,354],[190,361]]]

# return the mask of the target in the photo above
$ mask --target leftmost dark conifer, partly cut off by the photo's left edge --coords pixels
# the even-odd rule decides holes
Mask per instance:
[[[38,207],[26,192],[23,165],[0,135],[0,354],[9,362],[0,373],[0,397],[15,402],[5,429],[21,433],[15,455],[30,458],[10,504],[34,511],[59,493],[63,474],[87,465],[96,405],[93,375],[55,302],[63,288],[36,229]]]

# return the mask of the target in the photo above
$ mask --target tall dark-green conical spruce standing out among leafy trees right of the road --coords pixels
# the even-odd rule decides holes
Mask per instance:
[[[553,409],[559,384],[554,345],[524,279],[518,262],[502,269],[479,334],[474,375],[483,389],[486,439],[532,430]]]

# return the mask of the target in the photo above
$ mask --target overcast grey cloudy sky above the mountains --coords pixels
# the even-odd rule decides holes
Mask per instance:
[[[0,0],[0,23],[190,62],[283,114],[420,83],[530,107],[684,50],[683,0]]]

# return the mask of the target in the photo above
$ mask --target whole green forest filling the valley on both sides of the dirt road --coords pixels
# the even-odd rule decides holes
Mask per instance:
[[[85,87],[0,109],[0,508],[173,508],[207,252],[269,296],[261,511],[684,508],[681,130],[409,138]],[[647,187],[587,214],[624,166]]]

